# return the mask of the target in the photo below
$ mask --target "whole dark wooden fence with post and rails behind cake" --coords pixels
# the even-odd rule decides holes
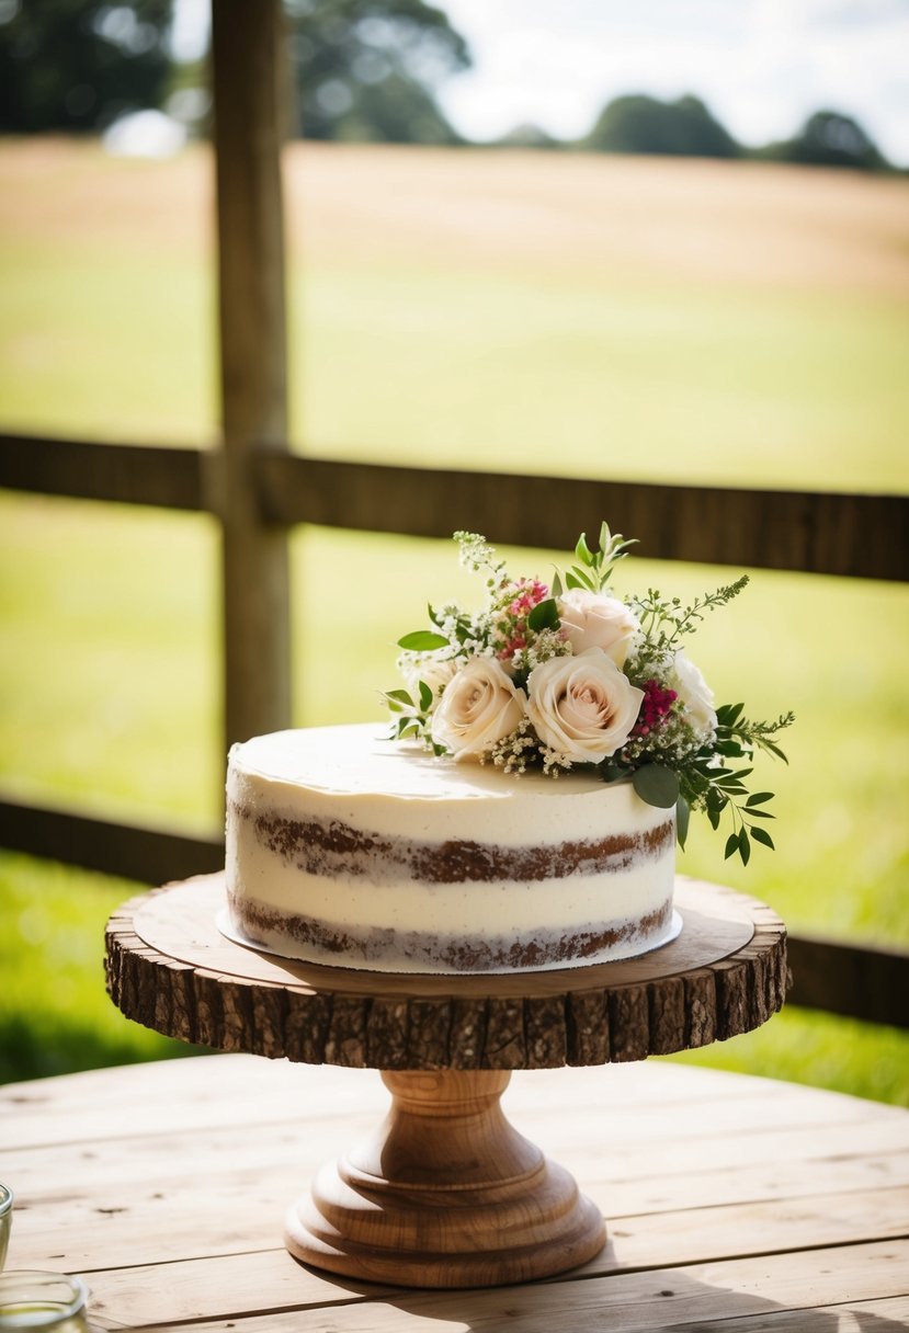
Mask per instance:
[[[396,468],[287,440],[280,0],[212,5],[223,443],[213,451],[0,435],[0,487],[211,513],[221,528],[225,746],[291,718],[288,531],[299,523],[558,549],[602,515],[648,556],[909,579],[909,499]],[[0,798],[0,845],[145,884],[223,865],[224,840]],[[790,938],[792,1002],[909,1028],[909,953]]]

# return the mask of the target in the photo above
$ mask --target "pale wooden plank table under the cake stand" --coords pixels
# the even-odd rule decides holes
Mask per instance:
[[[377,1073],[220,1054],[0,1089],[8,1265],[83,1273],[99,1328],[881,1333],[909,1326],[909,1114],[662,1060],[518,1072],[509,1114],[609,1218],[541,1282],[333,1277],[288,1193],[388,1105]]]

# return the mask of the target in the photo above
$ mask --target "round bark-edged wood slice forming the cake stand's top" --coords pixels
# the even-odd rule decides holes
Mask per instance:
[[[788,988],[782,921],[678,878],[677,940],[640,958],[510,976],[313,966],[220,934],[223,874],[167,885],[108,921],[111,998],[196,1045],[383,1070],[546,1069],[670,1054],[766,1022]]]

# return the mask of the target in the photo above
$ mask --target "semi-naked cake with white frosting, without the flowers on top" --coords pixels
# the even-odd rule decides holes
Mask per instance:
[[[229,928],[311,962],[520,972],[674,933],[674,810],[581,772],[520,777],[372,725],[277,732],[228,762]]]

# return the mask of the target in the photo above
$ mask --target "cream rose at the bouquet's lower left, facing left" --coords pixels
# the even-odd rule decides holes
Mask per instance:
[[[473,657],[445,686],[432,714],[432,738],[457,758],[481,754],[514,730],[524,694],[493,657]]]

